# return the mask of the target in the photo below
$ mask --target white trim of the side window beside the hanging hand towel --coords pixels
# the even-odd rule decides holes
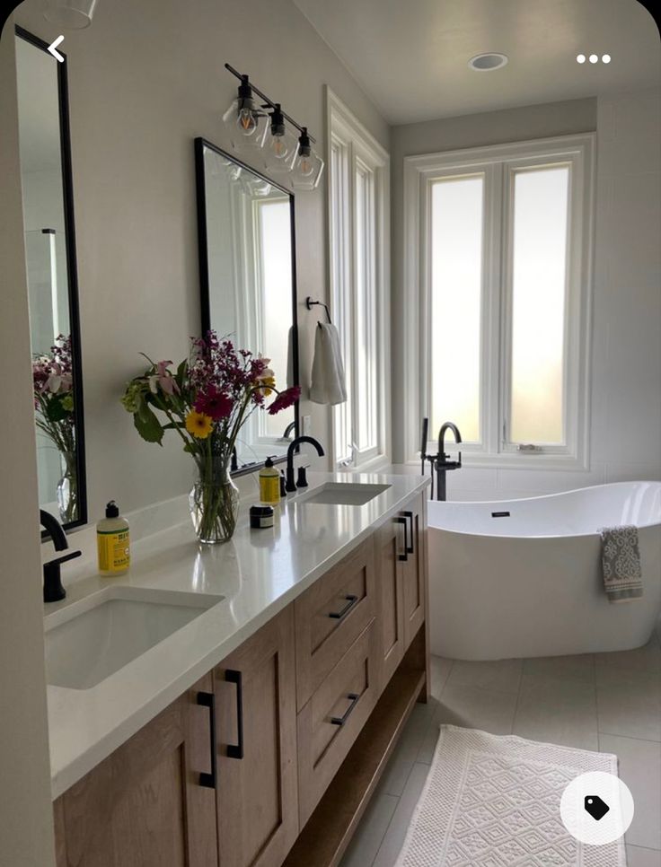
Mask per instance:
[[[364,124],[348,109],[348,107],[339,100],[339,97],[326,84],[324,86],[326,97],[326,152],[325,162],[328,171],[327,181],[327,244],[328,244],[328,260],[327,260],[327,280],[329,293],[329,306],[331,309],[331,318],[334,320],[333,311],[335,307],[334,301],[334,277],[333,277],[333,248],[334,248],[334,219],[332,212],[332,161],[331,151],[335,142],[339,139],[346,140],[349,149],[349,185],[351,187],[351,195],[353,197],[355,181],[353,173],[350,171],[353,162],[366,163],[366,165],[375,172],[375,223],[376,223],[376,299],[378,309],[378,322],[376,339],[378,343],[378,363],[377,363],[377,390],[378,390],[378,420],[377,433],[380,441],[377,450],[371,450],[366,455],[366,460],[363,463],[356,463],[355,458],[352,460],[349,471],[363,472],[366,468],[376,469],[380,466],[387,466],[391,463],[392,455],[392,410],[391,410],[391,263],[390,263],[390,154],[385,150],[369,132]],[[348,222],[348,226],[346,223]],[[355,282],[354,275],[354,257],[353,246],[355,243],[355,232],[353,216],[343,221],[342,232],[346,232],[348,241],[348,249],[351,252],[351,261],[347,266],[347,273],[351,284]],[[352,317],[355,323],[355,316]],[[340,336],[341,337],[341,336]],[[350,335],[349,339],[355,346],[357,336]],[[349,367],[349,366],[348,366]],[[349,375],[349,374],[348,374]],[[334,410],[331,410],[334,412]],[[331,421],[331,460],[334,469],[342,469],[335,466],[335,454],[337,453],[335,442],[335,425]]]

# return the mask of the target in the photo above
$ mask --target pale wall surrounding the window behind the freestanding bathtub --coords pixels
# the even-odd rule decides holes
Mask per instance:
[[[591,460],[586,471],[471,469],[451,499],[507,499],[626,478],[661,478],[659,92],[527,106],[392,129],[393,405],[401,405],[402,161],[414,153],[597,132]],[[395,417],[394,460],[403,460]],[[419,425],[419,420],[415,420]],[[451,446],[450,451],[453,451]]]

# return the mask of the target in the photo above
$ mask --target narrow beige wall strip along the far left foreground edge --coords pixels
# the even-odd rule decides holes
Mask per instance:
[[[28,293],[11,22],[0,40],[0,863],[54,863]]]

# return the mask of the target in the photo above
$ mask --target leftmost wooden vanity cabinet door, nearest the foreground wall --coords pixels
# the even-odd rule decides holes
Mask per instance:
[[[211,675],[55,801],[57,867],[217,867]]]

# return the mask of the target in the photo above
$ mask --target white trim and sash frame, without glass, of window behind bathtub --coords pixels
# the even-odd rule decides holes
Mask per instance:
[[[428,251],[426,228],[429,220],[430,201],[427,196],[427,184],[434,177],[452,171],[454,174],[466,171],[485,171],[485,166],[496,173],[497,194],[485,200],[484,219],[494,227],[492,232],[484,234],[484,285],[483,301],[487,303],[482,323],[482,340],[500,341],[503,345],[504,328],[506,327],[502,299],[506,293],[507,277],[504,261],[498,265],[495,238],[503,237],[503,221],[507,218],[504,198],[505,184],[511,174],[507,164],[520,161],[538,161],[551,159],[558,162],[563,155],[572,162],[577,162],[582,173],[578,189],[580,210],[578,239],[575,241],[577,257],[571,263],[572,278],[583,288],[582,292],[573,293],[574,307],[568,310],[566,323],[572,331],[568,342],[569,364],[577,371],[573,394],[568,394],[568,406],[571,407],[576,423],[573,451],[570,453],[542,452],[520,453],[516,451],[493,451],[493,443],[501,439],[501,431],[494,431],[493,425],[501,425],[502,418],[502,363],[482,363],[480,379],[482,397],[498,401],[498,422],[494,422],[497,414],[493,412],[493,404],[489,409],[484,404],[484,418],[481,420],[481,434],[486,436],[490,451],[463,451],[464,464],[480,468],[507,469],[563,469],[584,470],[589,466],[589,409],[591,401],[590,367],[591,367],[591,331],[592,331],[592,296],[594,274],[594,244],[595,244],[595,140],[594,132],[574,136],[554,136],[551,138],[533,139],[523,142],[502,145],[486,145],[480,147],[462,148],[452,151],[440,151],[404,157],[403,167],[403,206],[404,206],[404,247],[402,260],[403,285],[410,287],[410,293],[405,299],[403,311],[403,371],[405,417],[410,419],[404,430],[404,461],[407,464],[418,464],[419,459],[419,424],[421,421],[421,401],[427,395],[427,282],[428,282]],[[505,165],[504,165],[505,164]],[[574,208],[570,209],[570,215]],[[568,228],[569,231],[569,228]],[[423,234],[424,233],[424,234]],[[506,257],[503,257],[503,260]],[[578,268],[578,262],[580,268]],[[568,264],[569,267],[569,264]],[[500,284],[499,301],[493,303],[493,286],[489,280],[497,279]],[[577,301],[576,301],[577,298]],[[491,346],[491,348],[493,348]],[[573,355],[572,355],[573,353]],[[493,353],[489,352],[493,358]],[[411,363],[415,359],[416,363]],[[428,397],[424,398],[428,400]],[[490,426],[489,426],[490,425]],[[502,448],[502,446],[499,446]]]

